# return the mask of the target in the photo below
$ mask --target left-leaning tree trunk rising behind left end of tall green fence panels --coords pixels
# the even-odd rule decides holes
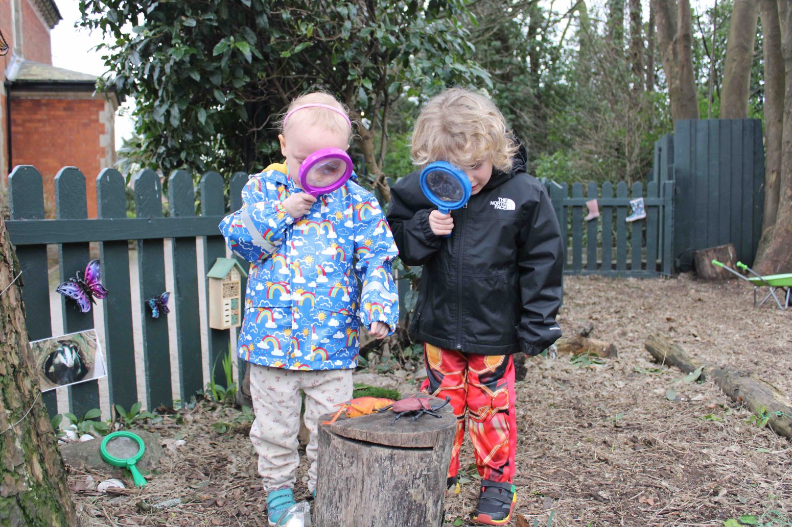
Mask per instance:
[[[657,41],[668,81],[671,115],[699,119],[699,100],[693,78],[690,0],[651,0],[657,22]]]

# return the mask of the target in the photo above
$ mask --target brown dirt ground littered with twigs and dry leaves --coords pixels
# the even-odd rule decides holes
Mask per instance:
[[[713,383],[680,381],[680,370],[657,365],[643,346],[659,333],[790,395],[792,309],[754,308],[744,282],[566,277],[559,323],[571,335],[588,322],[619,358],[599,365],[537,357],[517,386],[511,525],[792,527],[790,442],[749,422],[751,412]],[[679,400],[668,400],[668,389]],[[162,435],[167,456],[145,487],[74,491],[87,525],[267,525],[249,421],[208,404],[183,412],[181,424],[167,417],[147,427]],[[468,443],[463,491],[446,500],[446,525],[468,525],[478,495],[472,461]],[[305,468],[303,460],[300,478]],[[72,470],[70,484],[79,488],[84,477]],[[296,494],[307,494],[304,481]],[[138,505],[173,498],[192,501],[149,511]]]

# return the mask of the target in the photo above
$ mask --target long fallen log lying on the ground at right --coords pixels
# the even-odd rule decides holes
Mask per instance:
[[[792,439],[792,402],[769,382],[729,366],[697,361],[664,336],[651,335],[644,345],[657,362],[676,366],[685,373],[703,366],[702,379],[714,381],[727,396],[752,412],[769,415],[767,425],[771,430]]]

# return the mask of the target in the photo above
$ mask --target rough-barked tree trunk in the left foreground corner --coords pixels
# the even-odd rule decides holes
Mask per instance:
[[[20,267],[0,218],[0,525],[78,525],[28,347]],[[17,424],[18,423],[18,424]]]

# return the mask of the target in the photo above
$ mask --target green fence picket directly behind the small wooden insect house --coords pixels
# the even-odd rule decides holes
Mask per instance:
[[[226,210],[223,203],[223,176],[216,172],[205,173],[200,178],[200,203],[201,215],[213,216],[223,214]],[[226,256],[226,242],[223,237],[204,237],[204,281],[206,283],[207,294],[209,291],[209,279],[206,278],[209,269],[215,264],[218,258]],[[226,376],[223,373],[223,356],[228,353],[230,346],[230,334],[228,330],[212,329],[208,324],[209,311],[207,309],[206,319],[209,334],[209,375],[215,383],[225,386]]]

